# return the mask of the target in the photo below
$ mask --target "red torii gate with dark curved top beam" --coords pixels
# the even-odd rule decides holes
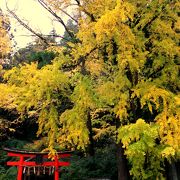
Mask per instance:
[[[8,161],[8,166],[17,166],[17,180],[22,180],[23,169],[26,167],[54,167],[54,179],[59,180],[59,167],[69,166],[70,162],[59,161],[60,158],[71,156],[71,151],[57,152],[53,161],[44,161],[48,159],[48,152],[30,152],[18,149],[4,148],[8,156],[19,157],[19,161]],[[30,158],[33,161],[27,161]]]

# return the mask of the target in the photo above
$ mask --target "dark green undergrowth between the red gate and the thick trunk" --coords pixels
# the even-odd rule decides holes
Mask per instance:
[[[98,149],[94,157],[73,155],[71,166],[62,168],[62,180],[87,180],[90,178],[117,179],[115,149]]]

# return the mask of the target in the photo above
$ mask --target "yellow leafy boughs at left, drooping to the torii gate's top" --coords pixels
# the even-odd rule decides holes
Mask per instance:
[[[0,96],[1,107],[15,107],[21,116],[38,114],[37,135],[48,136],[50,151],[58,133],[57,108],[61,104],[58,97],[68,94],[67,76],[59,70],[59,64],[55,61],[42,69],[37,69],[35,63],[15,67],[4,75],[7,84],[0,84],[0,93],[3,93]]]

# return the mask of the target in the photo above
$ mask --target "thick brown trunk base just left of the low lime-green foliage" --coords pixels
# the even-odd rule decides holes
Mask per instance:
[[[124,155],[124,149],[122,143],[119,142],[117,145],[117,168],[118,168],[118,180],[128,180],[129,171],[127,167],[127,160]]]

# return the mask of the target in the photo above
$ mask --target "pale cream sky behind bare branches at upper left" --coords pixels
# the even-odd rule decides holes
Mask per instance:
[[[54,27],[58,34],[63,34],[63,27],[57,22],[52,22],[53,17],[51,14],[43,9],[37,0],[0,0],[0,8],[3,12],[6,10],[6,1],[9,9],[15,10],[20,18],[26,19],[30,27],[35,29],[36,32],[48,34]],[[14,29],[16,29],[16,32],[13,32]],[[15,20],[11,21],[11,30],[18,47],[24,47],[32,41],[32,37],[23,36],[30,34],[29,31],[22,28]]]

